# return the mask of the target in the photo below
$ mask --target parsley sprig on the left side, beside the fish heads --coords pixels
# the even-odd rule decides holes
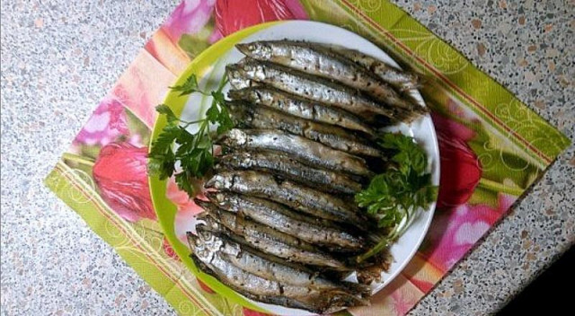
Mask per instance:
[[[217,124],[217,135],[221,135],[234,127],[226,108],[222,89],[226,85],[226,75],[222,78],[217,91],[205,92],[199,89],[196,75],[190,75],[185,83],[170,87],[173,91],[187,95],[199,92],[212,97],[212,103],[206,111],[206,117],[194,121],[186,121],[176,117],[173,110],[165,104],[155,107],[164,115],[167,125],[155,139],[148,154],[148,172],[160,180],[172,177],[178,188],[186,191],[190,197],[195,196],[193,180],[204,176],[214,165],[214,145],[209,136],[209,124]],[[198,124],[198,131],[190,133],[186,128]],[[179,164],[180,168],[177,168]]]

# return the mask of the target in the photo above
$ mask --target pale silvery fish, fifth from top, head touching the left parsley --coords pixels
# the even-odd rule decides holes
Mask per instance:
[[[220,136],[216,143],[234,149],[280,152],[293,156],[299,162],[332,171],[362,177],[373,175],[366,161],[358,156],[279,130],[233,128]]]

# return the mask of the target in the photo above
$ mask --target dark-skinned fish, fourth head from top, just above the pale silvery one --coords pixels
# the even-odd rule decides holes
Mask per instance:
[[[304,136],[349,154],[381,157],[375,147],[367,145],[365,139],[354,136],[341,127],[334,127],[311,120],[296,118],[277,110],[248,104],[242,101],[226,101],[232,119],[238,127],[256,129],[280,129],[290,134]]]

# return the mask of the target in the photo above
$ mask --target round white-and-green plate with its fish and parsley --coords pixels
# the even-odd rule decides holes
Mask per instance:
[[[438,142],[420,84],[370,41],[320,22],[219,40],[156,108],[150,190],[173,250],[256,311],[368,305],[435,209]]]

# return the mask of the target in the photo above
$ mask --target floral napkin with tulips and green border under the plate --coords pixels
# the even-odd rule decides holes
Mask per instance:
[[[314,20],[357,32],[423,75],[441,155],[438,209],[417,255],[368,307],[403,315],[540,178],[570,141],[394,4],[370,0],[184,0],[100,102],[45,180],[181,314],[254,315],[185,268],[156,221],[146,178],[155,105],[202,50],[260,22]],[[174,183],[176,231],[190,203]]]

